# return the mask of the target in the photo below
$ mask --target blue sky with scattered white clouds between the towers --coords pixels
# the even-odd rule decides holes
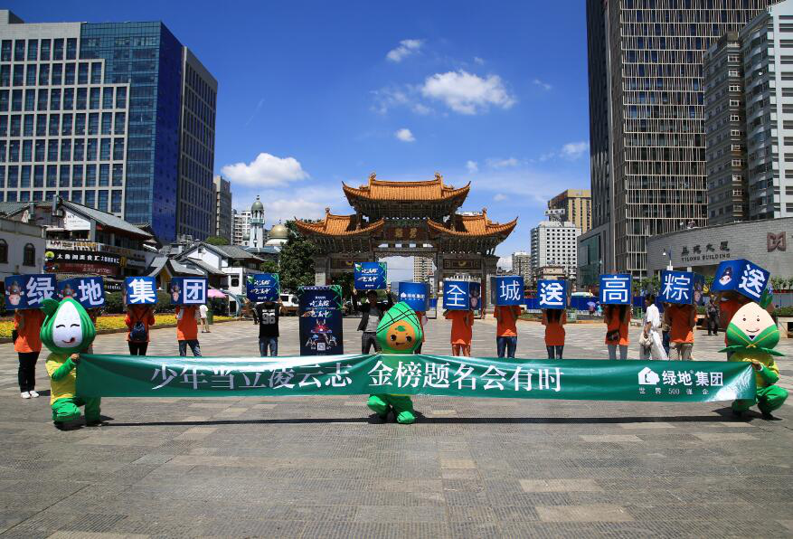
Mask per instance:
[[[472,182],[519,217],[589,187],[583,2],[10,2],[28,22],[162,20],[219,82],[215,173],[268,226],[349,213],[341,181]]]

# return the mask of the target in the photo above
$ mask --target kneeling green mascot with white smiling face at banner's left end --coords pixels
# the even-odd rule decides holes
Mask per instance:
[[[52,421],[62,429],[65,423],[80,419],[79,407],[85,405],[85,424],[101,424],[99,397],[81,398],[76,394],[80,352],[88,349],[97,335],[88,312],[71,298],[64,298],[60,303],[45,299],[42,310],[46,315],[42,325],[42,343],[52,352],[47,357],[47,374],[52,388]]]

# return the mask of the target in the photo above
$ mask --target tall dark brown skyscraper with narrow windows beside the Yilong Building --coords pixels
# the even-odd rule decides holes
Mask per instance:
[[[648,236],[707,224],[703,52],[768,0],[587,0],[592,227],[606,272]],[[605,136],[604,136],[605,135]]]

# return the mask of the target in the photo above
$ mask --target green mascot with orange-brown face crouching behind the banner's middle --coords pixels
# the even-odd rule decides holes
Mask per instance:
[[[382,364],[391,367],[396,372],[401,361],[400,357],[389,358],[392,354],[412,354],[421,344],[423,332],[416,317],[416,311],[406,303],[397,303],[388,309],[377,326],[377,342],[382,348]],[[388,418],[388,412],[393,410],[393,415],[398,423],[410,425],[416,421],[413,411],[413,402],[410,395],[390,395],[378,393],[369,395],[371,408],[382,420]]]

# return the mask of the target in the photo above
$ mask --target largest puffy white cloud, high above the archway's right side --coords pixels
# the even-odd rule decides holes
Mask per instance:
[[[463,70],[435,73],[424,80],[420,90],[424,97],[439,99],[460,114],[477,114],[491,106],[509,109],[515,105],[515,98],[498,75],[483,79]]]

